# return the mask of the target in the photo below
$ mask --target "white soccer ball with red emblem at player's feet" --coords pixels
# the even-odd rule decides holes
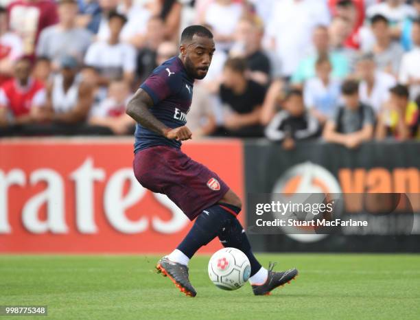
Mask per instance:
[[[250,263],[246,255],[235,248],[223,248],[209,261],[209,277],[223,290],[236,290],[248,281]]]

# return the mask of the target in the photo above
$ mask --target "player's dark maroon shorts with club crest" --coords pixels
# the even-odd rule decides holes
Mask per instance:
[[[168,146],[139,150],[133,168],[143,187],[166,194],[189,220],[218,203],[229,190],[205,165],[192,160],[180,149]]]

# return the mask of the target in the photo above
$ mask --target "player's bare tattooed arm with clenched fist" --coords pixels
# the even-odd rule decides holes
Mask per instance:
[[[143,89],[137,90],[135,95],[128,102],[126,113],[154,133],[163,135],[167,139],[187,140],[191,139],[191,131],[186,126],[171,129],[163,124],[159,119],[156,119],[150,112],[153,107],[153,100],[150,95]]]

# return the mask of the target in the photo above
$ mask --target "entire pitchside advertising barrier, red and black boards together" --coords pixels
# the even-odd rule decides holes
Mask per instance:
[[[265,140],[204,139],[188,141],[183,150],[218,172],[242,198],[296,190],[420,194],[415,141],[369,143],[357,150],[308,141],[285,152]],[[189,220],[166,196],[137,183],[132,158],[132,138],[0,140],[0,253],[172,250],[189,230]],[[243,223],[246,214],[250,218],[246,207]],[[419,251],[418,234],[387,232],[250,239],[256,251]],[[215,240],[200,252],[219,247]]]

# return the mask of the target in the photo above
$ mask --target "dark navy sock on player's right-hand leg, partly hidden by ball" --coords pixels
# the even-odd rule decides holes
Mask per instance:
[[[251,277],[259,271],[261,264],[258,262],[257,258],[255,258],[245,230],[237,218],[233,217],[233,219],[229,220],[228,225],[222,228],[222,232],[219,234],[219,240],[224,247],[240,249],[240,251],[245,253],[250,262]]]

